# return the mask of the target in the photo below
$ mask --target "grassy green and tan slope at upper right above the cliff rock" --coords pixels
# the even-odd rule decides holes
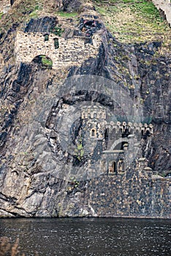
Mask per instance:
[[[121,42],[163,41],[171,43],[170,27],[151,1],[94,1],[107,29]]]

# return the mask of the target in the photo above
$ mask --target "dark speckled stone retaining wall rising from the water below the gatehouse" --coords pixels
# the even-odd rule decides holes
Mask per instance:
[[[72,210],[65,208],[61,215],[170,218],[170,178],[153,178],[148,169],[127,170],[125,175],[102,175],[91,179],[85,195],[79,189],[75,189],[74,198],[72,194],[68,195],[72,203],[80,198],[79,214],[75,211],[75,203]]]

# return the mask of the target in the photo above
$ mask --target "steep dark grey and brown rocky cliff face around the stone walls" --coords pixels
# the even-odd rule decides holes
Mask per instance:
[[[79,15],[68,18],[57,14],[56,17],[52,7],[64,11],[64,16],[67,12],[79,12]],[[171,58],[170,53],[161,52],[163,42],[118,42],[89,2],[80,5],[80,1],[50,1],[47,12],[43,17],[28,18],[28,23],[12,22],[0,34],[1,217],[95,216],[87,177],[102,174],[101,165],[92,176],[83,173],[83,166],[89,171],[89,162],[84,158],[80,137],[83,127],[80,109],[88,104],[102,106],[109,116],[112,113],[113,122],[138,120],[153,124],[152,136],[147,133],[140,136],[138,154],[148,159],[153,172],[170,171]],[[41,59],[15,64],[17,31],[27,36],[55,34],[66,42],[83,40],[83,49],[74,48],[75,56],[82,54],[83,58],[73,64],[72,53],[62,67],[53,69],[44,52],[45,59],[40,54]],[[53,47],[56,46],[52,45],[52,51]],[[87,47],[96,48],[96,54],[85,56]],[[67,44],[63,53],[66,51]],[[118,89],[121,91],[117,92]],[[115,99],[116,92],[118,99]],[[120,104],[119,98],[123,99]],[[137,116],[130,117],[132,113]],[[134,162],[131,167],[134,169]],[[91,184],[96,186],[98,181]],[[101,215],[98,210],[98,216]]]

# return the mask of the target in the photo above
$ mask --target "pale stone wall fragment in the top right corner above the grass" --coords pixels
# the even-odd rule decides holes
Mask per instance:
[[[171,26],[171,3],[170,0],[152,0],[158,10],[164,12],[167,22]]]

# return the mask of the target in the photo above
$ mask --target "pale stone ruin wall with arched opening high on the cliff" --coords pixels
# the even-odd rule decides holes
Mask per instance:
[[[58,38],[59,48],[55,49],[54,39]],[[93,45],[87,43],[82,37],[64,39],[50,34],[45,42],[44,34],[24,33],[18,31],[15,39],[16,64],[30,63],[36,56],[45,55],[53,61],[53,69],[78,65],[90,57],[98,54],[101,40],[94,35]]]

